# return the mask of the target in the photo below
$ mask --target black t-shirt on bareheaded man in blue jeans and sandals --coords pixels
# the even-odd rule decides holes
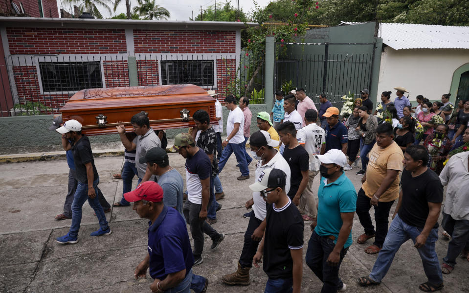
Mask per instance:
[[[402,171],[402,204],[399,217],[408,225],[424,228],[428,217],[428,203],[443,202],[443,186],[440,178],[428,168],[423,174],[412,178],[411,172]],[[438,227],[438,223],[434,228]]]

